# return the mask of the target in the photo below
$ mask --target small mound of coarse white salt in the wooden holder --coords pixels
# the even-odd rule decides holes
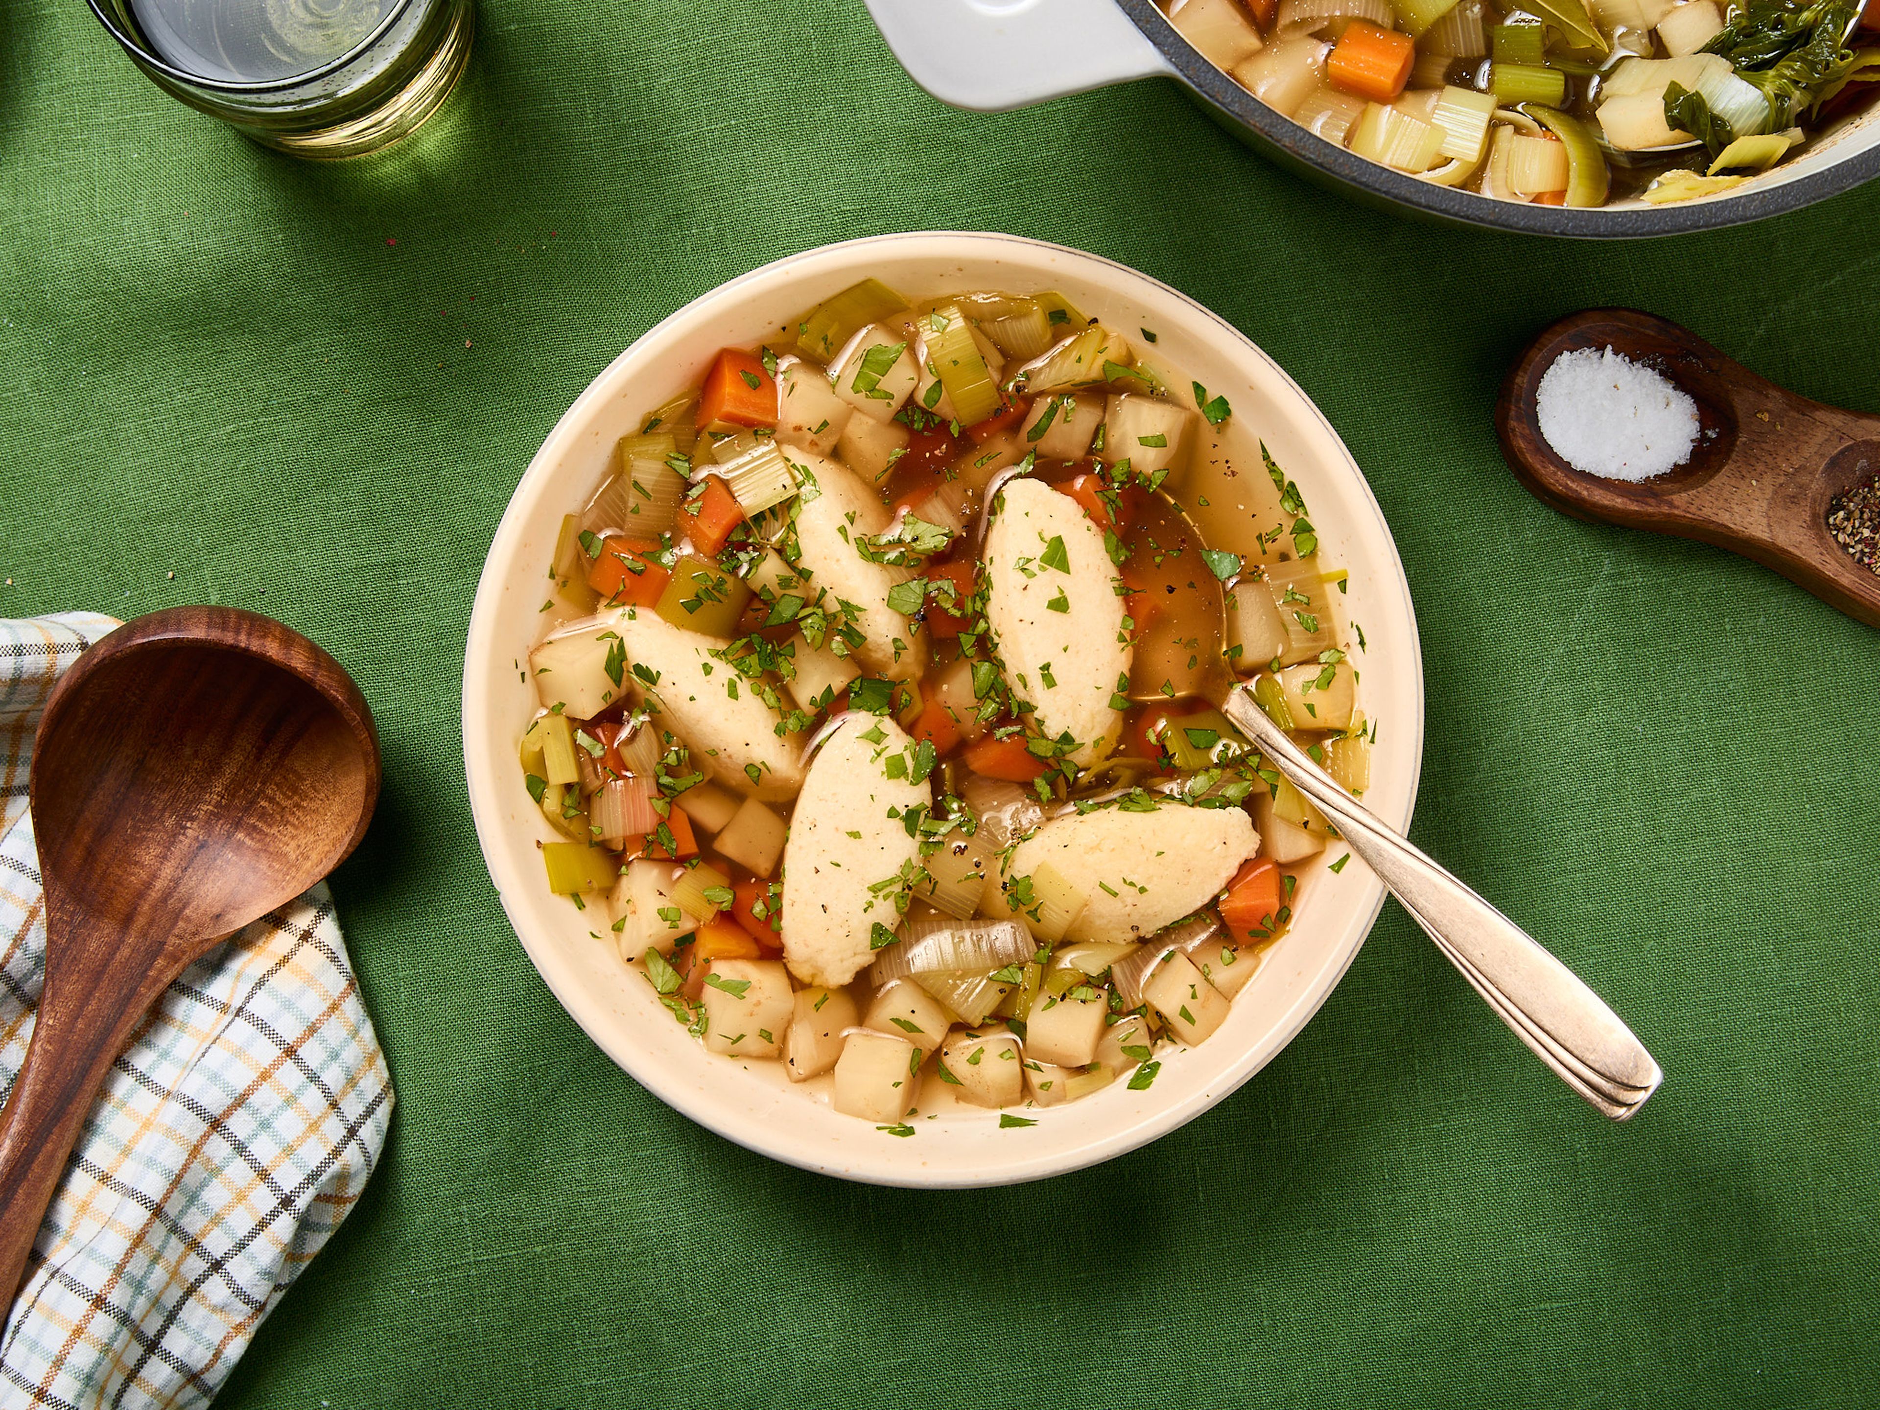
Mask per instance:
[[[1698,444],[1698,404],[1662,372],[1611,348],[1560,353],[1540,380],[1540,434],[1581,474],[1637,483]]]

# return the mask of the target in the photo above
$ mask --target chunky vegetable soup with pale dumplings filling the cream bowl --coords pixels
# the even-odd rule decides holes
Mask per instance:
[[[1361,791],[1361,628],[1152,344],[867,280],[572,506],[521,782],[547,884],[711,1053],[893,1134],[1141,1089],[1290,923],[1333,833],[1218,703],[1252,681]]]

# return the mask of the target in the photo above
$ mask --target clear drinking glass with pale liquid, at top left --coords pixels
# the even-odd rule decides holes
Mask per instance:
[[[438,111],[470,0],[86,0],[165,92],[263,147],[363,156]]]

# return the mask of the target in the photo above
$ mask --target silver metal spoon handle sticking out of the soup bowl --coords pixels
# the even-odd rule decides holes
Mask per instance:
[[[1532,936],[1335,784],[1237,686],[1226,714],[1402,902],[1463,978],[1555,1073],[1615,1120],[1664,1079],[1632,1030]]]

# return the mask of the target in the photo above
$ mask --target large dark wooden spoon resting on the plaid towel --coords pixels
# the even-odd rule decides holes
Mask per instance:
[[[194,959],[331,872],[378,782],[359,688],[256,613],[141,617],[55,686],[32,756],[45,991],[0,1117],[0,1307],[145,1013]]]

